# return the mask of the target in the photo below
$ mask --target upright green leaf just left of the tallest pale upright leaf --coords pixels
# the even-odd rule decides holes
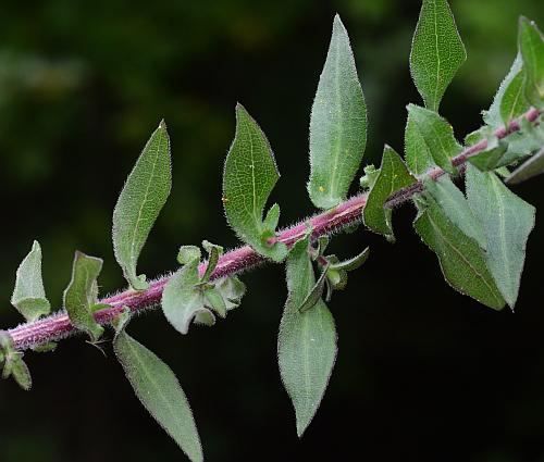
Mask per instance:
[[[236,135],[223,172],[223,204],[236,235],[257,252],[274,261],[287,254],[283,242],[270,245],[262,222],[264,205],[280,173],[261,128],[242,104],[236,105]]]

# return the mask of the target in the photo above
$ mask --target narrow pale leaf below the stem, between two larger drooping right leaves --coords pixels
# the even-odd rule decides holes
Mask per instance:
[[[487,241],[482,224],[474,216],[465,198],[465,195],[447,176],[436,182],[425,182],[425,189],[434,198],[442,212],[466,236],[474,239],[485,250]]]

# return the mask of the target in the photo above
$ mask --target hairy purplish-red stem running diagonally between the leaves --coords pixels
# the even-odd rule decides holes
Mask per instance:
[[[522,117],[529,122],[534,122],[540,115],[540,111],[531,108]],[[508,127],[499,128],[495,132],[497,138],[504,138],[507,135],[520,129],[519,121],[510,122]],[[483,139],[480,142],[466,148],[460,154],[452,159],[454,166],[462,165],[467,160],[487,147],[487,140]],[[387,208],[394,208],[404,202],[407,202],[413,195],[423,190],[423,179],[429,177],[436,180],[442,175],[445,175],[442,168],[435,167],[430,170],[418,183],[395,192],[385,203]],[[362,221],[362,209],[367,203],[367,192],[355,196],[332,210],[322,212],[309,218],[307,222],[286,228],[281,232],[274,239],[292,246],[300,239],[307,229],[309,223],[312,227],[312,239],[319,236],[327,235],[345,227],[357,225]],[[211,280],[223,276],[234,275],[243,271],[249,270],[252,266],[265,262],[264,257],[259,255],[249,246],[240,247],[232,250],[221,257]],[[201,263],[199,271],[203,274],[206,262]],[[162,290],[170,276],[163,276],[150,284],[149,288],[144,291],[125,290],[112,297],[101,300],[101,303],[108,303],[111,308],[97,311],[95,319],[99,324],[109,324],[113,319],[121,313],[124,307],[129,308],[133,312],[141,312],[160,303]],[[49,341],[60,340],[71,335],[77,334],[77,330],[70,322],[67,314],[64,311],[51,314],[41,320],[21,324],[20,326],[8,330],[8,334],[13,339],[13,345],[16,350],[26,350],[45,345]]]

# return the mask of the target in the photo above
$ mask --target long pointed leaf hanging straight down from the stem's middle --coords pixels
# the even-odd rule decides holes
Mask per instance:
[[[316,284],[308,246],[308,237],[299,240],[287,258],[288,296],[277,338],[280,373],[295,408],[298,436],[318,410],[336,359],[336,329],[325,303],[298,310]]]

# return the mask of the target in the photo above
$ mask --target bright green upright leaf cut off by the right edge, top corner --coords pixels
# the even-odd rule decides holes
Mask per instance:
[[[544,109],[544,36],[534,22],[519,20],[518,47],[523,58],[523,89],[527,100]]]

